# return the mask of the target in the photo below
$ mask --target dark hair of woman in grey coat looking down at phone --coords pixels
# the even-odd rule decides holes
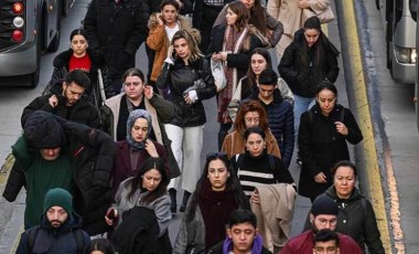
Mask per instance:
[[[132,181],[131,181],[131,190],[127,194],[127,199],[128,200],[132,197],[132,194],[138,189],[140,189],[141,192],[147,191],[146,189],[142,188],[142,176],[147,171],[149,171],[151,169],[155,169],[155,170],[158,170],[160,172],[160,174],[161,174],[161,182],[158,186],[158,188],[155,188],[155,190],[150,191],[148,194],[146,194],[141,199],[141,203],[149,204],[149,203],[153,202],[154,200],[157,200],[158,198],[160,198],[160,197],[162,197],[163,194],[166,193],[166,187],[169,184],[169,177],[168,177],[168,172],[165,171],[164,161],[161,158],[150,157],[150,158],[148,158],[146,160],[144,166],[142,166],[142,168],[140,169],[140,171],[132,179]]]

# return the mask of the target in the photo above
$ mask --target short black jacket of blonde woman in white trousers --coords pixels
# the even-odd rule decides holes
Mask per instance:
[[[205,87],[194,88],[197,100],[189,105],[183,98],[183,93],[193,86],[195,81],[205,83]],[[201,57],[185,65],[183,60],[176,57],[174,65],[164,63],[157,85],[161,89],[170,87],[168,100],[175,105],[175,116],[170,124],[179,127],[194,127],[206,123],[202,100],[212,98],[216,94],[214,77],[206,60]]]

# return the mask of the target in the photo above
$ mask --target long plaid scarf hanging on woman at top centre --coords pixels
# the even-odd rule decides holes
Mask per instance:
[[[223,51],[229,51],[232,54],[237,54],[240,52],[247,34],[247,27],[239,32],[232,25],[227,25],[224,33]],[[232,118],[228,115],[227,106],[232,100],[233,87],[237,86],[237,68],[225,65],[224,73],[227,84],[226,87],[218,94],[218,123],[228,124],[232,123]]]

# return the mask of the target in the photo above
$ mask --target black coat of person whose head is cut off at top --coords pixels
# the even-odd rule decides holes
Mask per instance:
[[[93,0],[84,29],[89,46],[105,53],[109,78],[135,66],[136,52],[147,38],[147,17],[141,0]]]

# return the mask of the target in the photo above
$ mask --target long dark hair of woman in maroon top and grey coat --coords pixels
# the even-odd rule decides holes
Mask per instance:
[[[195,211],[196,211],[196,207],[197,207],[197,200],[198,200],[198,197],[200,197],[201,191],[202,191],[202,186],[203,186],[204,181],[208,180],[208,178],[207,178],[208,167],[210,167],[210,162],[213,160],[221,160],[226,166],[226,169],[229,172],[229,177],[227,178],[227,182],[226,182],[226,191],[228,191],[229,193],[233,193],[235,195],[234,198],[236,200],[238,208],[239,209],[249,209],[250,208],[249,199],[246,197],[245,192],[243,191],[240,182],[237,178],[237,173],[234,171],[234,169],[233,169],[233,167],[228,160],[227,155],[224,152],[212,152],[212,154],[208,154],[206,157],[207,158],[206,158],[204,171],[202,172],[201,178],[196,183],[195,191],[191,198],[191,203],[190,203],[190,205],[187,205],[187,209],[185,211],[186,220],[192,221],[194,215],[195,215]]]

